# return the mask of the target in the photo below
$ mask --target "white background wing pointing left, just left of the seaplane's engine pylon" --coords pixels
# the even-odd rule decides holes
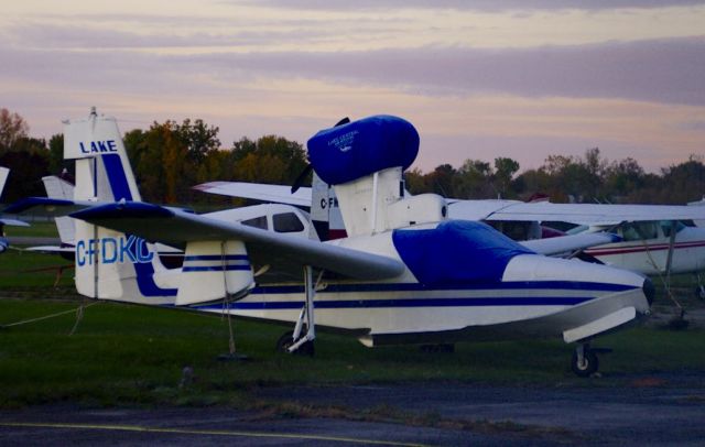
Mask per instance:
[[[208,194],[250,198],[285,205],[311,207],[311,188],[300,187],[291,194],[291,186],[245,182],[209,182],[193,187]]]

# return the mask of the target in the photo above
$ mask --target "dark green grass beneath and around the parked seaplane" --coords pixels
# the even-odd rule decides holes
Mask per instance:
[[[67,261],[26,252],[0,255],[0,407],[50,402],[85,405],[248,406],[258,386],[290,384],[464,381],[523,385],[621,386],[654,371],[705,370],[705,331],[634,328],[600,338],[599,380],[570,371],[572,347],[561,340],[458,344],[456,352],[416,347],[368,349],[355,339],[319,334],[315,358],[274,352],[289,327],[234,320],[239,352],[226,362],[227,319],[185,310],[99,303],[85,309],[75,332],[73,312],[83,298],[65,271],[39,266]],[[7,326],[54,313],[55,318]],[[193,383],[180,386],[184,367]]]

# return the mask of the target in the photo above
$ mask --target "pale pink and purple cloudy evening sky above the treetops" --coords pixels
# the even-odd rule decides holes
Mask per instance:
[[[224,146],[388,113],[414,167],[599,148],[705,154],[705,0],[23,0],[0,14],[0,108],[30,134],[91,106],[122,131],[202,118]]]

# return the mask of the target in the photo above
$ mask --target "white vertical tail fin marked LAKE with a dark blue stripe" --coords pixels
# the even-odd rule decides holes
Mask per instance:
[[[115,118],[65,121],[64,157],[76,161],[75,200],[140,201]],[[61,194],[64,194],[62,192]],[[152,244],[132,235],[75,220],[76,288],[100,299],[173,304],[176,288]]]

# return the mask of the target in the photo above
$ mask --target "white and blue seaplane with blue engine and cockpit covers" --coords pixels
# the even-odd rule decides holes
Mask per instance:
[[[571,364],[582,377],[598,369],[596,337],[650,312],[654,290],[641,274],[545,257],[448,218],[441,196],[404,197],[420,138],[398,117],[308,140],[347,232],[328,241],[306,233],[290,205],[257,219],[245,216],[250,207],[196,215],[141,201],[113,118],[66,121],[64,135],[74,199],[31,198],[14,210],[41,205],[75,219],[75,282],[87,297],[288,321],[293,330],[278,342],[288,352],[313,352],[326,329],[367,347],[555,337],[576,345]],[[183,250],[183,265],[166,269],[156,242]]]

